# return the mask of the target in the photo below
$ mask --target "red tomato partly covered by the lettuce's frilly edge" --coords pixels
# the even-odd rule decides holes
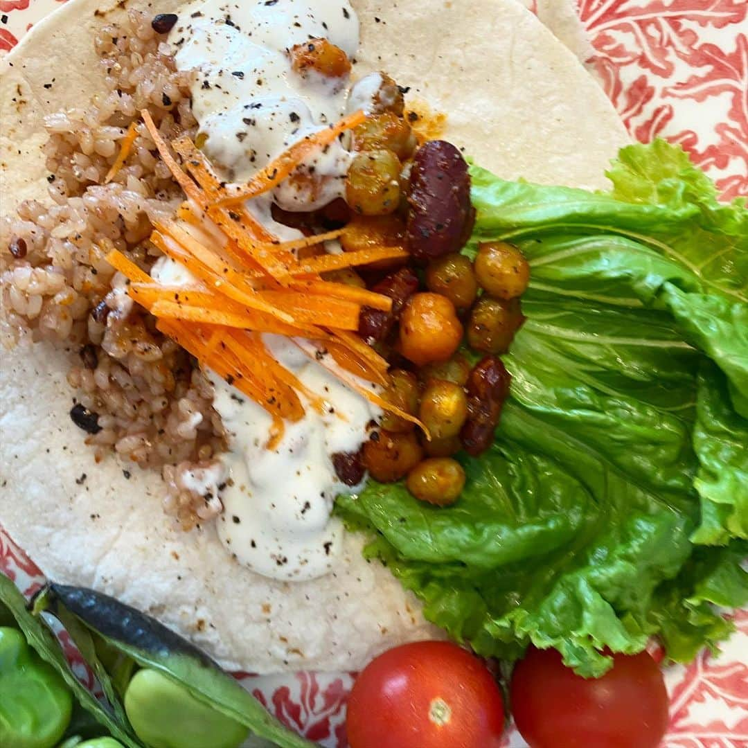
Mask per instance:
[[[582,678],[555,649],[530,649],[510,689],[517,729],[530,748],[655,748],[668,699],[647,652],[613,654],[601,678]]]

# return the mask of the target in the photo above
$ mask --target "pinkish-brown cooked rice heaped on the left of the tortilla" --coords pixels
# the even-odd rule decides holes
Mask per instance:
[[[221,508],[182,479],[225,448],[212,387],[132,303],[125,279],[105,260],[118,249],[149,269],[159,254],[147,242],[151,221],[171,215],[182,199],[142,123],[125,165],[103,184],[129,124],[148,108],[167,140],[196,130],[191,76],[175,70],[150,20],[130,11],[127,22],[103,29],[96,37],[102,93],[88,108],[46,118],[49,201],[27,200],[0,222],[2,322],[6,337],[31,334],[86,353],[68,374],[79,402],[99,414],[102,429],[86,441],[97,456],[114,450],[141,468],[162,470],[165,507],[192,527]]]

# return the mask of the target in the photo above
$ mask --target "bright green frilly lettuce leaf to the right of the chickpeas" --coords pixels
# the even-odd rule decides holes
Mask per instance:
[[[607,194],[471,171],[467,251],[509,239],[532,268],[496,442],[454,506],[372,482],[337,512],[480,654],[601,675],[660,634],[688,659],[748,601],[745,203],[663,141],[622,149]]]

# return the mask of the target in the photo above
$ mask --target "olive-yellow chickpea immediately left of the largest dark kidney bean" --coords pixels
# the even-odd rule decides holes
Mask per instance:
[[[386,148],[357,153],[348,169],[346,201],[357,213],[387,215],[400,202],[400,162]]]

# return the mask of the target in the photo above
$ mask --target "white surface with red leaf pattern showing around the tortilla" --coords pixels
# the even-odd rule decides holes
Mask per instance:
[[[0,0],[0,55],[61,1]],[[748,0],[522,1],[560,37],[582,40],[574,51],[634,139],[680,143],[726,199],[748,194]],[[0,571],[28,596],[44,583],[1,527]],[[735,624],[718,656],[702,652],[688,666],[666,669],[670,726],[661,748],[748,746],[748,611],[738,611]],[[67,634],[59,636],[95,692],[93,674]],[[289,728],[323,747],[346,747],[354,674],[235,675]],[[503,741],[503,748],[525,745],[514,729]]]

